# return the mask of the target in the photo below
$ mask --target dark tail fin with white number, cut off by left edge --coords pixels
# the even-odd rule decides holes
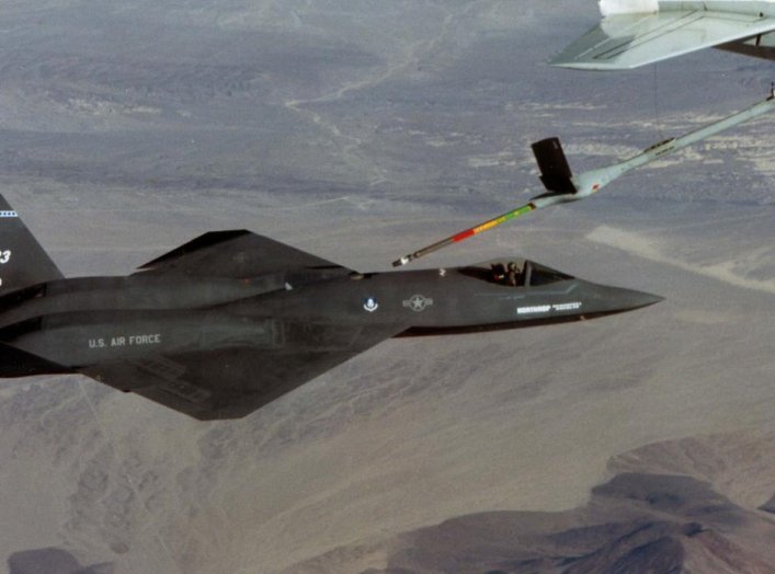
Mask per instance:
[[[0,295],[61,276],[19,214],[0,195]]]

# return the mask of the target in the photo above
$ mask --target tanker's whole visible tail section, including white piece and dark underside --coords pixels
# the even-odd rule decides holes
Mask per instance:
[[[622,70],[709,47],[775,59],[775,0],[600,0],[599,4],[600,25],[551,64]]]

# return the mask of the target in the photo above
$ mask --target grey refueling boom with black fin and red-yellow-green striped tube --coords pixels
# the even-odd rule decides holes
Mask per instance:
[[[652,161],[656,161],[668,153],[672,153],[687,146],[692,146],[706,138],[715,136],[739,124],[748,122],[754,117],[766,114],[775,107],[775,87],[770,91],[770,95],[763,102],[759,102],[745,110],[732,114],[723,119],[709,124],[696,131],[686,134],[677,138],[670,138],[659,144],[647,148],[641,153],[634,156],[623,162],[608,165],[607,168],[599,168],[596,170],[585,171],[573,176],[568,160],[562,151],[562,146],[558,138],[548,138],[533,144],[533,153],[540,169],[540,181],[547,188],[547,193],[538,195],[531,199],[527,204],[501,214],[493,219],[489,219],[471,227],[446,239],[432,243],[422,248],[414,253],[404,255],[392,262],[394,267],[400,267],[415,259],[438,251],[442,248],[458,243],[465,239],[477,236],[483,231],[500,226],[511,219],[520,217],[524,214],[568,202],[577,202],[593,195],[605,187],[607,184],[620,177],[630,170],[641,168]]]

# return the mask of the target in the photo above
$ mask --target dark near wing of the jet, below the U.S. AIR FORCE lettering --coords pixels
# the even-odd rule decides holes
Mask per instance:
[[[274,349],[242,344],[79,370],[195,418],[239,418],[406,329],[284,323]]]

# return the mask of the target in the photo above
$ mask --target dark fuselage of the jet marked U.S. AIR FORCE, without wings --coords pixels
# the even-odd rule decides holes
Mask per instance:
[[[659,297],[531,264],[529,285],[488,266],[373,274],[341,267],[249,279],[144,275],[58,279],[0,299],[0,342],[81,369],[105,361],[249,346],[341,345],[353,326],[444,334],[573,321]],[[350,335],[343,335],[350,336]]]

